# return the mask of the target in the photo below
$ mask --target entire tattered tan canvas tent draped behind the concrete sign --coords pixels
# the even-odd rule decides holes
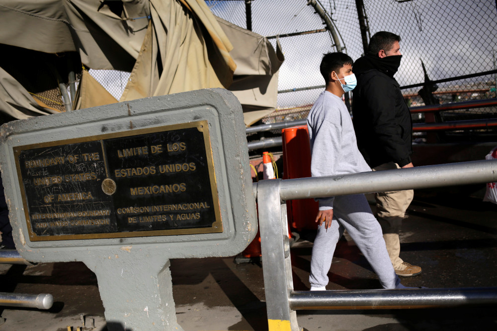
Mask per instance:
[[[276,107],[279,43],[275,51],[203,0],[3,0],[0,16],[0,51],[10,55],[0,59],[0,112],[15,119],[60,111],[42,92],[71,71],[81,73],[74,108],[116,102],[82,65],[131,72],[120,101],[224,87],[248,125]]]

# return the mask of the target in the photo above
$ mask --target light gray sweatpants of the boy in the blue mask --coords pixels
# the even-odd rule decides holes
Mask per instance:
[[[399,277],[390,262],[380,224],[363,194],[335,197],[331,227],[325,231],[324,222],[318,227],[311,257],[311,286],[328,285],[331,259],[345,229],[378,275],[383,288],[395,288],[400,283]]]

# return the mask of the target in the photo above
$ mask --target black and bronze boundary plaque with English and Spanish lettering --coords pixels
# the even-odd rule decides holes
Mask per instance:
[[[31,241],[223,232],[207,121],[13,152]]]

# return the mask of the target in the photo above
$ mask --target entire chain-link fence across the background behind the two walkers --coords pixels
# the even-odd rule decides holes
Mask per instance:
[[[206,0],[211,11],[268,37],[279,38],[285,62],[280,67],[277,111],[263,123],[304,119],[323,90],[321,57],[336,52],[324,20],[308,0]],[[246,3],[249,2],[249,3]],[[356,60],[364,54],[358,8],[363,5],[366,38],[377,31],[401,36],[403,59],[396,79],[410,107],[423,106],[418,92],[426,77],[434,82],[433,103],[497,97],[497,1],[495,0],[316,0],[331,19],[340,48]],[[425,71],[423,71],[423,67]],[[490,71],[490,73],[489,73]],[[129,72],[90,70],[117,100]],[[439,82],[443,80],[442,82]],[[352,105],[353,107],[353,105]],[[442,120],[495,117],[494,107],[441,113]],[[414,122],[422,122],[419,115]]]

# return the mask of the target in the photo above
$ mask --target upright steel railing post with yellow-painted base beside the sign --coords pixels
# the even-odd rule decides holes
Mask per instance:
[[[290,251],[285,254],[282,215],[286,218],[286,208],[281,208],[280,179],[263,180],[257,183],[260,246],[262,272],[266,295],[267,323],[269,331],[299,331],[297,315],[290,309],[289,295],[293,290]],[[282,281],[284,280],[284,281]]]

